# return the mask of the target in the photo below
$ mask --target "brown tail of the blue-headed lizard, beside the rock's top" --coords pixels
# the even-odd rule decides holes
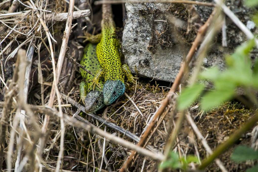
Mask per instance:
[[[112,16],[112,8],[111,4],[102,4],[102,22],[101,22],[102,27],[110,27],[110,26],[115,26],[115,22],[113,20]]]

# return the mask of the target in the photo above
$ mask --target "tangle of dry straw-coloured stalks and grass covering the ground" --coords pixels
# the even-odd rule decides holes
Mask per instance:
[[[135,155],[128,161],[128,171],[157,171],[160,161],[167,157],[167,142],[182,116],[175,110],[176,91],[186,78],[184,74],[215,12],[199,30],[183,30],[186,42],[194,42],[171,89],[168,83],[140,78],[127,86],[127,94],[116,103],[98,114],[85,114],[78,104],[82,77],[74,62],[83,55],[85,44],[78,38],[82,28],[100,31],[100,8],[80,1],[73,3],[70,0],[70,7],[65,0],[0,3],[0,169],[117,171],[130,155]],[[77,6],[84,10],[78,11]],[[96,13],[89,16],[87,9]],[[176,14],[182,16],[179,18],[188,21],[185,5],[172,5],[170,10],[178,11]],[[56,13],[64,13],[64,17]],[[157,42],[164,48],[173,46],[170,24],[163,27],[164,32],[157,38],[155,27],[152,29],[153,47],[149,50],[153,53]],[[209,112],[200,111],[198,106],[196,103],[187,111],[187,120],[181,121],[181,129],[169,146],[180,158],[197,156],[199,163],[211,154],[209,149],[227,140],[255,113],[239,102],[228,102]],[[193,129],[192,118],[204,140]],[[246,133],[238,144],[248,144],[251,136]],[[218,157],[206,171],[243,171],[250,166],[250,162],[230,161],[232,150]],[[192,163],[191,169],[198,165]]]

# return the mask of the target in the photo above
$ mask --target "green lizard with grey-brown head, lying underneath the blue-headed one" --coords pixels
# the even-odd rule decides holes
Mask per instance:
[[[100,67],[100,63],[96,54],[96,44],[88,43],[86,45],[84,49],[84,55],[82,60],[80,61],[80,64],[84,66],[87,70],[91,71],[94,75],[94,73]],[[80,98],[85,105],[85,112],[96,112],[97,110],[103,108],[105,105],[102,92],[104,80],[100,80],[100,88],[97,88],[95,90],[89,89],[89,86],[91,84],[89,81],[93,79],[93,76],[81,68],[79,70],[83,78],[86,80],[86,82],[82,81],[80,83]]]

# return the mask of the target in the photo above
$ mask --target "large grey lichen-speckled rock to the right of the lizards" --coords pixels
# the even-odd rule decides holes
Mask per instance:
[[[247,24],[250,21],[251,11],[249,9],[243,5],[239,7],[239,4],[233,0],[227,0],[226,4],[229,4],[230,9],[242,22]],[[140,76],[155,80],[174,82],[180,64],[196,36],[198,27],[207,20],[212,12],[211,7],[194,6],[190,13],[197,14],[198,17],[190,20],[191,23],[188,25],[190,8],[188,11],[184,11],[182,9],[186,6],[176,5],[126,3],[123,52],[125,62],[133,73],[137,72]],[[179,24],[175,22],[177,20],[180,20]],[[221,46],[222,36],[219,33],[204,60],[205,68],[217,65],[224,70],[226,68],[224,54],[233,53],[234,49],[246,40],[243,32],[227,17],[226,24],[228,47]],[[191,28],[187,30],[189,26]]]

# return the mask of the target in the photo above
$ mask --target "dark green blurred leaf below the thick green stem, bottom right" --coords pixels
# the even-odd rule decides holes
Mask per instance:
[[[250,147],[240,145],[233,151],[231,159],[236,162],[257,160],[258,151],[254,151]]]

